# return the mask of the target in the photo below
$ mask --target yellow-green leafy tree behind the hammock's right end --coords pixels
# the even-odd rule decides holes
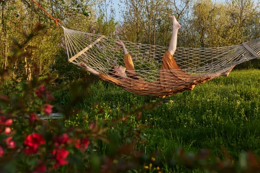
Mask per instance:
[[[254,23],[258,14],[251,0],[231,0],[226,3],[198,0],[194,4],[193,22],[200,46],[233,45],[254,39],[250,38],[253,34],[251,28],[259,27],[259,23]]]

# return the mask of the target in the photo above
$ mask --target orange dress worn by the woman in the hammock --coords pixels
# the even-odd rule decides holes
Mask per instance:
[[[135,75],[135,68],[132,58],[125,54],[124,63],[127,75]],[[164,98],[185,90],[192,90],[195,85],[203,84],[206,81],[221,76],[221,74],[208,74],[203,76],[191,76],[181,70],[176,64],[172,54],[166,51],[162,57],[162,66],[159,70],[159,76],[155,82],[147,82],[141,77],[118,79],[100,73],[99,77],[111,83],[114,83],[125,90],[139,94]]]

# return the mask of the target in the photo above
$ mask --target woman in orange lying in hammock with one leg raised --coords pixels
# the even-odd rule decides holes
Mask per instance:
[[[170,18],[172,19],[172,36],[168,50],[162,57],[162,66],[159,70],[157,81],[148,82],[136,75],[132,58],[124,43],[121,41],[116,42],[116,44],[121,46],[124,50],[125,67],[114,66],[110,71],[110,74],[105,75],[86,66],[84,63],[80,63],[80,65],[94,75],[99,76],[101,79],[119,85],[129,92],[162,98],[184,90],[192,90],[195,85],[205,83],[215,77],[228,76],[233,67],[200,76],[192,76],[181,70],[173,58],[177,46],[177,34],[181,25],[174,16],[170,16]]]

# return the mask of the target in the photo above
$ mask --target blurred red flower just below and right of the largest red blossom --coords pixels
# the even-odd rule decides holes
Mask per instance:
[[[56,163],[54,168],[58,168],[62,165],[68,164],[67,156],[69,155],[69,151],[64,148],[57,148],[52,151],[52,154],[55,155]]]

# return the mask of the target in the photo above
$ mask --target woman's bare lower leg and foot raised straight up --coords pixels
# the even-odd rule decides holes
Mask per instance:
[[[177,47],[178,30],[180,29],[181,25],[178,23],[175,16],[169,16],[169,17],[172,19],[172,35],[171,35],[168,51],[173,55]]]

